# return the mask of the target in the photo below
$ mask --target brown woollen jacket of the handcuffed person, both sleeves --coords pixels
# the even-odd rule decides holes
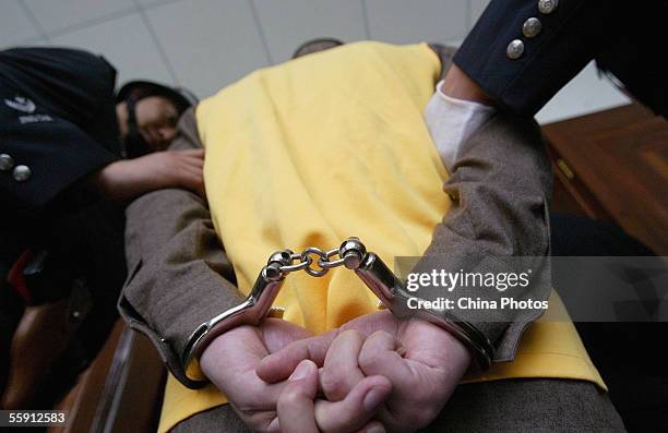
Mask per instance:
[[[444,74],[452,51],[432,48],[441,58]],[[179,132],[171,149],[201,147],[192,110],[183,115]],[[537,256],[540,263],[532,265],[544,272],[521,297],[515,292],[515,298],[547,299],[549,268],[541,257],[549,252],[546,199],[551,190],[551,170],[537,124],[506,113],[494,115],[463,145],[443,189],[455,204],[436,227],[425,256]],[[180,361],[188,337],[202,322],[243,300],[206,203],[176,189],[138,199],[127,209],[126,248],[129,277],[119,301],[121,315],[152,339],[180,382],[198,386],[184,376]],[[432,265],[425,258],[415,270],[424,272]],[[489,299],[500,296],[486,293]],[[431,296],[452,293],[427,297]],[[526,324],[539,313],[526,310],[493,317],[461,315],[476,323],[494,344],[494,361],[506,361],[513,359]]]

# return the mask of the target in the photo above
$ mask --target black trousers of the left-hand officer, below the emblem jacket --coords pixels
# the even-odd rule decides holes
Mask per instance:
[[[7,281],[19,255],[26,249],[49,251],[51,270],[58,277],[45,278],[47,301],[68,297],[74,281],[82,282],[85,299],[79,299],[76,350],[68,360],[75,374],[93,360],[118,317],[116,302],[127,275],[123,226],[123,211],[103,201],[49,218],[0,215],[0,393],[7,381],[12,336],[25,308]]]

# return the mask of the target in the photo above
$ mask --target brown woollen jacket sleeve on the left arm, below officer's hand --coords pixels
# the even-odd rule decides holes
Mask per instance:
[[[192,147],[201,144],[190,109],[170,149]],[[126,216],[130,274],[120,313],[152,339],[175,377],[186,386],[201,386],[186,377],[181,364],[190,333],[244,299],[206,203],[184,190],[160,190],[135,200]]]

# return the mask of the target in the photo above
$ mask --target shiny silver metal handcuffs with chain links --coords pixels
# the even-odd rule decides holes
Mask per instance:
[[[318,266],[312,267],[312,256],[318,256]],[[338,258],[330,258],[338,255]],[[295,261],[299,263],[295,264]],[[408,299],[415,296],[406,290],[404,282],[374,253],[368,252],[358,238],[348,238],[339,248],[329,251],[310,246],[301,254],[291,250],[273,253],[266,266],[262,267],[248,298],[215,317],[202,323],[191,334],[181,357],[186,376],[195,382],[206,377],[200,369],[200,357],[208,344],[225,332],[240,326],[258,326],[272,311],[272,304],[281,291],[285,277],[296,270],[306,270],[313,277],[322,277],[331,268],[345,266],[355,270],[365,285],[379,298],[381,306],[386,308],[396,318],[418,317],[432,323],[452,334],[474,354],[478,368],[489,369],[494,348],[489,339],[473,324],[455,317],[446,310],[409,309]]]

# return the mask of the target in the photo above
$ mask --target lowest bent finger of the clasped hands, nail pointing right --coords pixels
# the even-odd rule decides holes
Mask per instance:
[[[383,376],[365,377],[341,401],[315,401],[315,421],[323,432],[355,432],[362,429],[392,394]]]

